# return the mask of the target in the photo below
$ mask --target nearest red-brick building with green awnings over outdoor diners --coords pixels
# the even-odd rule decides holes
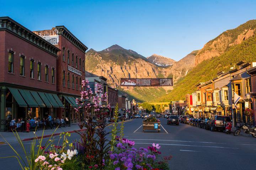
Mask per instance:
[[[0,17],[0,130],[6,120],[42,119],[63,107],[56,91],[59,51],[13,19]]]

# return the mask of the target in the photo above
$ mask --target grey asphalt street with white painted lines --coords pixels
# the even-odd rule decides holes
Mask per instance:
[[[255,169],[256,138],[211,132],[186,124],[167,125],[166,119],[160,120],[160,132],[143,132],[141,118],[128,121],[124,125],[124,136],[135,141],[137,148],[159,143],[162,155],[173,156],[170,161],[172,170]],[[108,126],[107,131],[111,128]],[[76,138],[77,134],[71,134],[70,140]],[[30,141],[24,143],[29,149]],[[21,152],[17,143],[12,144]],[[0,150],[0,157],[14,155],[7,145],[0,145]],[[0,164],[1,170],[18,169],[15,158],[0,159]]]

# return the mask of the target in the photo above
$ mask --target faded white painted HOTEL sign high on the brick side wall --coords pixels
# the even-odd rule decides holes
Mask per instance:
[[[43,30],[43,31],[34,31],[33,33],[37,34],[41,38],[45,39],[46,41],[50,42],[53,45],[58,45],[59,42],[59,35],[58,30]]]

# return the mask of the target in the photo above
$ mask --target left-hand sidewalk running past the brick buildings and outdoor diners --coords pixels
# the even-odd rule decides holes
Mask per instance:
[[[126,120],[124,122],[131,121],[131,120],[133,120],[133,119]],[[121,123],[121,122],[118,122],[118,123]],[[111,125],[113,125],[113,123],[109,124],[109,126],[111,126]],[[54,130],[55,129],[46,129],[46,130],[44,130],[44,134],[43,134],[43,130],[40,129],[40,130],[36,131],[36,135],[37,135],[38,138],[41,138],[42,135],[43,135],[43,138],[47,138],[47,137],[50,137],[53,134]],[[70,127],[66,126],[65,128],[63,128],[63,127],[58,128],[55,131],[55,133],[53,134],[53,136],[57,136],[62,132],[74,133],[75,131],[84,131],[84,130],[86,130],[86,129],[84,128],[84,129],[81,130],[79,128],[78,124],[75,123],[75,124],[71,124]],[[34,131],[18,132],[18,135],[20,136],[22,141],[30,141],[30,140],[33,140],[33,138],[34,138]],[[0,145],[4,144],[3,142],[5,142],[3,137],[9,143],[17,142],[17,139],[16,139],[16,137],[14,136],[14,134],[12,132],[0,132]]]

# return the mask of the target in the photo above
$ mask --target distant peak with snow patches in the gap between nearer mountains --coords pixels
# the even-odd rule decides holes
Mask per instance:
[[[176,61],[172,60],[171,58],[167,58],[164,56],[160,56],[157,54],[153,54],[150,57],[147,57],[148,61],[150,63],[156,64],[161,67],[167,67],[167,66],[172,66]]]

